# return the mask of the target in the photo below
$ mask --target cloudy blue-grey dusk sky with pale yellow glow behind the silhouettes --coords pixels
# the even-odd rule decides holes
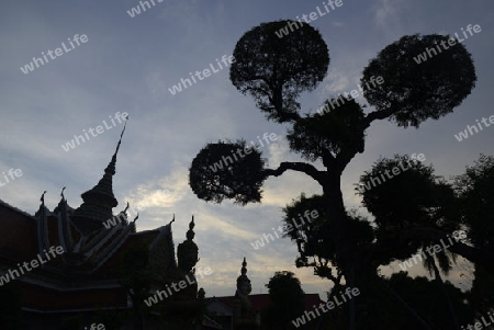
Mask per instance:
[[[175,214],[176,246],[186,239],[194,215],[200,254],[197,266],[212,271],[199,281],[206,296],[234,295],[246,257],[252,294],[267,293],[265,284],[276,271],[292,271],[306,293],[318,293],[324,298],[330,283],[314,276],[311,269],[294,266],[297,252],[289,239],[276,239],[257,250],[251,246],[281,224],[281,209],[293,198],[302,192],[322,193],[317,184],[304,174],[288,172],[265,182],[259,204],[211,204],[193,194],[188,170],[207,143],[239,138],[250,141],[266,133],[277,136],[261,148],[270,168],[281,161],[301,160],[288,148],[288,126],[268,122],[254,100],[231,83],[229,67],[223,64],[220,69],[216,59],[221,62],[231,56],[236,42],[254,26],[308,15],[317,12],[317,7],[324,12],[327,3],[149,3],[150,8],[141,8],[136,13],[132,9],[139,7],[139,1],[135,0],[2,1],[0,183],[4,184],[0,186],[0,200],[34,214],[43,191],[47,191],[45,203],[53,209],[63,186],[67,186],[69,205],[78,207],[80,194],[101,179],[115,149],[123,127],[116,116],[127,113],[130,121],[113,178],[119,201],[115,214],[126,202],[141,205],[139,231],[168,224]],[[448,179],[463,173],[480,153],[494,155],[494,128],[485,127],[461,141],[454,137],[467,125],[475,125],[475,120],[494,115],[489,105],[494,103],[493,9],[490,0],[343,0],[343,5],[325,15],[317,14],[311,22],[328,45],[330,64],[317,89],[299,99],[303,113],[313,112],[330,96],[357,89],[366,65],[403,35],[461,35],[468,24],[481,26],[479,33],[462,42],[476,69],[472,93],[453,113],[439,121],[429,120],[418,129],[374,122],[367,130],[364,152],[352,159],[343,177],[347,208],[369,216],[355,194],[355,184],[381,156],[424,153],[425,162],[433,163],[436,173]],[[42,58],[38,67],[32,62],[33,57]],[[171,92],[181,79],[190,79],[189,72],[211,66],[215,70],[210,77]],[[357,100],[366,104],[361,96]],[[75,135],[85,134],[90,138],[79,139],[74,148],[66,145]],[[20,169],[22,175],[7,177],[7,182],[3,173],[10,169]],[[470,265],[463,262],[463,266]],[[397,271],[394,264],[383,273]],[[409,273],[425,274],[419,265]],[[450,278],[464,286],[460,274],[461,270],[456,270]]]

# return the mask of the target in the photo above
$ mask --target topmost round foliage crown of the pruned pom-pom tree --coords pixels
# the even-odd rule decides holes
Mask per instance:
[[[269,120],[297,120],[301,92],[312,91],[324,79],[329,65],[326,43],[308,24],[280,38],[274,32],[289,22],[262,23],[245,33],[234,50],[232,83],[250,94]]]

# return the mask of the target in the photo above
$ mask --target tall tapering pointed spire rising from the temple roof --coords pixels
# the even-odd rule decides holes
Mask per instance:
[[[115,174],[116,155],[119,153],[122,137],[127,125],[128,117],[120,134],[119,144],[109,164],[104,169],[103,178],[91,190],[85,192],[82,205],[75,212],[72,221],[85,235],[101,229],[103,223],[113,216],[112,209],[119,202],[113,195],[113,175]]]

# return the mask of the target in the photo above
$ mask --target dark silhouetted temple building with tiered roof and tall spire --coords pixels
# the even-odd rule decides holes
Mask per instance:
[[[13,306],[12,312],[1,312],[0,329],[76,330],[92,323],[105,329],[218,329],[201,314],[204,291],[198,291],[193,274],[199,251],[193,217],[177,260],[175,217],[166,226],[136,232],[137,217],[130,219],[125,208],[116,225],[103,226],[115,217],[119,204],[112,180],[124,130],[103,177],[82,193],[78,208],[69,206],[64,190],[53,210],[43,194],[34,215],[0,201],[0,295],[3,305],[9,299]],[[186,288],[153,306],[144,304],[186,278]],[[201,328],[203,323],[211,325]]]

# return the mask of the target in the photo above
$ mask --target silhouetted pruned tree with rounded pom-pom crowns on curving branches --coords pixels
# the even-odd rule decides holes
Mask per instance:
[[[274,32],[288,23],[263,23],[246,32],[234,50],[236,61],[231,67],[231,80],[242,93],[254,98],[256,106],[269,121],[289,126],[290,149],[305,161],[284,161],[278,168],[269,169],[263,163],[259,167],[260,155],[256,153],[256,166],[246,166],[248,173],[238,171],[240,163],[251,161],[246,157],[211,173],[210,159],[229,156],[238,144],[229,144],[231,148],[224,151],[212,150],[209,147],[214,144],[207,145],[192,161],[190,185],[205,201],[234,198],[245,204],[260,201],[262,182],[269,177],[282,175],[288,170],[305,173],[322,187],[326,220],[316,225],[318,228],[312,236],[310,231],[314,228],[305,229],[308,234],[305,249],[308,250],[301,252],[301,264],[311,265],[303,259],[304,254],[317,257],[319,253],[336,264],[336,274],[330,274],[336,276],[335,280],[344,276],[350,286],[366,286],[369,275],[375,273],[382,261],[368,258],[378,255],[391,260],[394,255],[386,251],[384,243],[369,241],[366,235],[361,244],[355,244],[353,232],[360,221],[345,207],[343,171],[357,153],[364,151],[366,130],[374,121],[388,120],[397,126],[418,128],[427,120],[451,113],[475,86],[473,61],[465,47],[457,44],[448,52],[417,64],[415,56],[447,42],[449,36],[403,36],[382,49],[363,69],[360,82],[364,87],[363,95],[372,106],[370,110],[366,112],[364,106],[348,95],[329,98],[323,112],[303,115],[296,98],[314,90],[324,79],[329,56],[319,32],[308,24],[299,23],[301,29],[283,38],[277,37]],[[382,83],[375,83],[377,78],[381,78]],[[324,170],[317,169],[314,162],[322,162]],[[439,183],[436,189],[440,189]],[[433,215],[433,209],[423,212]],[[391,218],[386,221],[389,226],[396,226]],[[364,229],[366,225],[357,226],[363,228],[363,234],[369,229]],[[433,229],[436,231],[429,231],[429,235],[434,232],[435,239],[446,237],[440,228]],[[414,232],[409,235],[413,237]],[[330,278],[327,272],[324,274]]]

